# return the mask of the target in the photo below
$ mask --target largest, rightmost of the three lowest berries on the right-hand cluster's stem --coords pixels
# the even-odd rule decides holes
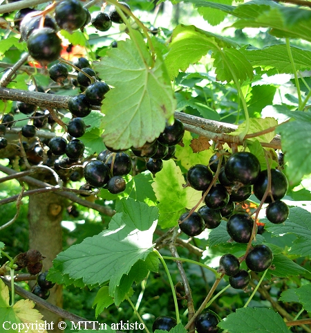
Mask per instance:
[[[270,267],[273,260],[273,253],[270,248],[264,244],[254,247],[245,258],[245,264],[252,271],[261,272]]]

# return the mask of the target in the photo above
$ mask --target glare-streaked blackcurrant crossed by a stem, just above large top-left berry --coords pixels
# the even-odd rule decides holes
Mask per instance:
[[[21,39],[27,40],[33,30],[39,29],[40,21],[42,19],[42,15],[40,15],[40,13],[41,12],[39,11],[30,12],[23,18],[19,26],[19,31],[21,32]],[[51,28],[55,31],[57,30],[56,22],[54,21],[54,19],[52,19],[52,17],[48,15],[44,17],[44,27]]]

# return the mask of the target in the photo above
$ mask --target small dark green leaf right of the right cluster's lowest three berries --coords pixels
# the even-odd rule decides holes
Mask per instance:
[[[274,254],[272,264],[275,266],[275,269],[269,269],[269,273],[280,278],[299,276],[308,272],[283,254]]]

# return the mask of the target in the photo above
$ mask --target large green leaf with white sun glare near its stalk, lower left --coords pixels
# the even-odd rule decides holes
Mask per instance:
[[[153,220],[156,208],[137,201],[133,204],[133,199],[124,201],[125,206],[119,205],[118,209],[135,210],[138,215],[140,209],[144,210],[144,224],[141,226],[144,231],[124,224],[123,219],[129,220],[130,217],[117,210],[106,231],[87,237],[82,243],[59,253],[53,262],[54,267],[70,278],[82,278],[85,285],[110,280],[109,294],[113,296],[123,274],[129,273],[135,262],[144,260],[153,251],[152,236],[156,228],[156,221]]]

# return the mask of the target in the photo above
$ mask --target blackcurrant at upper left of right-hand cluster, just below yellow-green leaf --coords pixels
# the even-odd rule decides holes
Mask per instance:
[[[187,172],[187,181],[195,190],[205,191],[213,180],[213,174],[206,165],[196,164]]]

